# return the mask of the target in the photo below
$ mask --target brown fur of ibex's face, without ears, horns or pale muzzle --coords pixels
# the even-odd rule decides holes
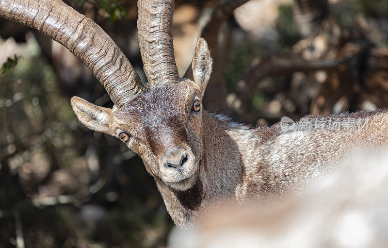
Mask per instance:
[[[113,112],[113,129],[132,136],[128,147],[142,157],[154,177],[162,178],[160,159],[167,149],[179,147],[192,152],[191,159],[201,157],[201,111],[192,111],[200,94],[190,80],[163,84]],[[194,163],[197,166],[198,161]]]

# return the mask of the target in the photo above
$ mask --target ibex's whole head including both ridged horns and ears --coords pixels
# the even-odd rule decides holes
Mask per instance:
[[[196,180],[202,152],[201,99],[211,73],[210,52],[199,39],[192,65],[179,79],[171,36],[174,0],[139,0],[138,10],[145,85],[109,35],[62,0],[0,1],[0,17],[61,43],[105,87],[113,109],[78,97],[71,100],[80,121],[120,138],[156,179],[185,190]]]

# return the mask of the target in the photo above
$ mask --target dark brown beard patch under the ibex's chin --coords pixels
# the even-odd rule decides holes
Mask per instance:
[[[184,191],[173,190],[179,203],[186,209],[198,210],[202,201],[203,185],[198,178],[193,187]]]

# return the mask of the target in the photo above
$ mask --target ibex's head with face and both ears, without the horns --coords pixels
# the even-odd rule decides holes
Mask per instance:
[[[189,70],[178,83],[162,83],[107,109],[73,97],[80,121],[90,129],[121,139],[143,159],[148,172],[175,190],[197,179],[202,155],[202,97],[211,73],[211,57],[198,40]]]

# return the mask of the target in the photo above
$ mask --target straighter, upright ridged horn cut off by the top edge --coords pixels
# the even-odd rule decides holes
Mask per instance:
[[[149,83],[178,83],[171,35],[174,0],[139,0],[137,6],[139,45]]]

